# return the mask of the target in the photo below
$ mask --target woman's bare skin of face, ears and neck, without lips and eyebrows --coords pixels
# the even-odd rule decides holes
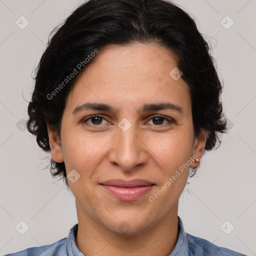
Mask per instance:
[[[206,133],[202,130],[194,138],[188,85],[169,75],[175,66],[174,55],[157,44],[108,45],[69,92],[61,139],[48,127],[53,159],[64,161],[67,174],[75,169],[80,175],[68,183],[78,217],[75,242],[86,256],[167,256],[176,244],[178,198],[189,168],[154,202],[149,196],[196,152],[200,152],[200,160]],[[85,110],[73,115],[73,109],[85,102],[106,103],[116,111]],[[139,111],[143,104],[156,102],[171,102],[183,110]],[[83,122],[93,114],[103,119]],[[174,122],[157,120],[153,118],[156,114]],[[126,131],[118,126],[123,118],[131,124]],[[189,167],[198,164],[192,161]],[[122,201],[99,185],[115,178],[142,178],[155,186],[136,200]],[[126,232],[119,228],[123,221],[129,227]]]

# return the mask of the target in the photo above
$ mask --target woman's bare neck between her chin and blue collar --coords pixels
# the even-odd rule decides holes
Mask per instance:
[[[119,234],[90,218],[76,203],[75,243],[84,256],[168,256],[178,238],[177,204],[160,221],[136,235]]]

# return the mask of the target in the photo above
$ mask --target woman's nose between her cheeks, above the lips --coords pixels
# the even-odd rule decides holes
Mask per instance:
[[[147,161],[144,134],[136,130],[135,124],[124,131],[117,128],[117,133],[111,141],[109,162],[118,165],[123,170],[135,170]]]

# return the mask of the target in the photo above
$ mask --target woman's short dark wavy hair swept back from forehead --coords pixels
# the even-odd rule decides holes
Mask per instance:
[[[134,42],[156,42],[174,53],[190,89],[194,135],[198,136],[201,129],[207,131],[205,150],[220,144],[219,133],[226,129],[220,100],[222,85],[209,45],[189,14],[165,0],[88,0],[51,31],[36,68],[26,126],[40,148],[50,151],[47,123],[60,137],[65,99],[75,78],[54,97],[47,95],[95,48],[100,51],[108,44]],[[51,158],[50,172],[63,178],[69,187],[64,162]]]

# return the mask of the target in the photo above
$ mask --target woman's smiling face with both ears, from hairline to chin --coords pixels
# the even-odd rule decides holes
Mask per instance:
[[[66,99],[61,140],[48,133],[53,159],[64,161],[72,176],[78,221],[86,216],[117,233],[126,221],[136,234],[177,214],[205,133],[194,138],[188,85],[169,74],[176,66],[160,45],[108,45],[77,78]],[[107,185],[112,179],[148,184]]]

